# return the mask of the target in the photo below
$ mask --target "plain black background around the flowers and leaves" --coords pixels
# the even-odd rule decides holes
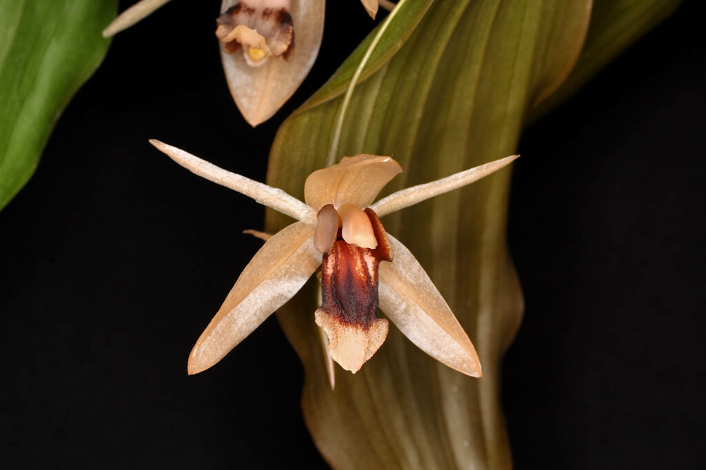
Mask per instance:
[[[219,4],[175,1],[119,34],[0,213],[6,464],[326,468],[274,318],[186,375],[260,246],[241,231],[260,229],[263,210],[147,139],[263,181],[277,127],[371,21],[356,2],[330,2],[311,75],[253,130],[222,76]],[[694,4],[522,137],[509,230],[526,310],[503,379],[517,469],[706,466],[706,48]]]

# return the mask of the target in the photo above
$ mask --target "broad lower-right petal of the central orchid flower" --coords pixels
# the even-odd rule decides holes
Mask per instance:
[[[476,349],[414,255],[388,234],[392,263],[380,263],[380,308],[422,351],[450,368],[481,376]]]

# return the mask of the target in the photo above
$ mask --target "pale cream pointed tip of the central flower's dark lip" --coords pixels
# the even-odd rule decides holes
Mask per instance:
[[[331,358],[345,370],[357,373],[380,349],[388,336],[388,320],[376,318],[368,327],[345,323],[319,308],[314,313],[316,325],[328,337]]]

